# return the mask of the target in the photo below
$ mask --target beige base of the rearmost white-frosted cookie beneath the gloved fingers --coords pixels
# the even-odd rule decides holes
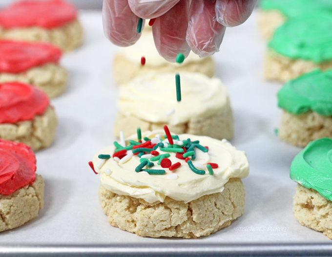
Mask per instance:
[[[142,76],[151,71],[157,73],[167,73],[167,72],[199,72],[207,75],[207,77],[212,78],[214,76],[214,62],[211,57],[202,59],[199,62],[189,62],[183,63],[179,66],[174,66],[168,63],[165,63],[162,66],[153,67],[148,65],[148,60],[146,64],[141,65],[141,60],[137,60],[137,63],[126,59],[123,55],[118,54],[114,59],[114,80],[118,85],[129,82],[131,79],[136,78],[137,76]]]

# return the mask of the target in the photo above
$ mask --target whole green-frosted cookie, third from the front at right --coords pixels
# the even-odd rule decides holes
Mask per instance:
[[[332,13],[312,13],[291,18],[269,42],[264,77],[295,79],[314,69],[332,67]]]

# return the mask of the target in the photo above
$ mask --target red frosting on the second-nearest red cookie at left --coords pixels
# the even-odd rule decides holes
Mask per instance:
[[[20,82],[0,84],[0,124],[33,120],[48,105],[47,95],[34,86]]]

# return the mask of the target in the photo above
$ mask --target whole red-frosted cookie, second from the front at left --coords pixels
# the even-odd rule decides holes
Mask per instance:
[[[57,118],[42,90],[20,82],[0,84],[0,138],[36,151],[51,145]]]

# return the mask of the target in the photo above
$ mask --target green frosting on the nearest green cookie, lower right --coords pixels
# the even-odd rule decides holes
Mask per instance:
[[[290,178],[332,200],[332,139],[310,142],[291,162]]]

